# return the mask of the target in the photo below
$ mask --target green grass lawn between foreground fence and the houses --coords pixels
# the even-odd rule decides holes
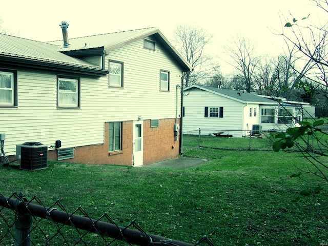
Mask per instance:
[[[292,201],[312,186],[290,178],[294,164],[304,163],[300,153],[185,144],[185,155],[209,161],[188,170],[58,162],[35,172],[1,167],[0,194],[37,195],[46,207],[59,199],[69,212],[81,206],[95,219],[108,212],[119,226],[136,218],[148,233],[188,243],[203,235],[214,245],[328,243],[327,187],[316,198]],[[90,245],[101,245],[97,238]]]

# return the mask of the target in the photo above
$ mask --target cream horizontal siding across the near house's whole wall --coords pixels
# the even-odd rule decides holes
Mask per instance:
[[[104,144],[105,122],[137,120],[138,116],[175,118],[175,88],[182,69],[160,45],[150,52],[144,48],[144,39],[139,39],[110,51],[106,69],[109,59],[124,62],[124,88],[109,88],[108,76],[81,76],[78,110],[57,109],[57,73],[19,69],[18,108],[0,109],[6,155],[14,155],[16,145],[27,141],[51,146],[61,140],[61,148]],[[174,90],[169,93],[158,89],[162,68],[170,71]]]

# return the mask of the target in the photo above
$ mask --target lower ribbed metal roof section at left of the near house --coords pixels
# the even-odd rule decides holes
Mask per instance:
[[[67,65],[85,69],[101,70],[100,67],[83,60],[58,52],[58,46],[31,39],[0,34],[0,60],[19,58],[29,61],[39,61],[57,65]]]

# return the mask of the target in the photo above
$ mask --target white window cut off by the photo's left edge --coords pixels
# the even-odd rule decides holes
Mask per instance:
[[[0,107],[17,106],[17,72],[0,70]]]

